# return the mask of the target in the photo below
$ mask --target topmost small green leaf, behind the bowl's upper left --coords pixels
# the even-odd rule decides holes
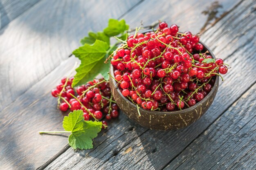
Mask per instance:
[[[106,27],[103,32],[108,35],[109,37],[119,35],[124,31],[129,29],[129,25],[126,24],[125,20],[115,20],[110,19],[108,20],[108,27]]]

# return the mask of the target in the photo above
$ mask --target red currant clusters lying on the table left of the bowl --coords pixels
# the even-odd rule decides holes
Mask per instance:
[[[100,121],[103,113],[106,119],[116,118],[119,115],[119,108],[112,98],[109,82],[105,79],[94,79],[85,85],[76,88],[77,95],[71,84],[73,77],[61,79],[61,83],[52,90],[52,96],[58,97],[58,107],[61,111],[83,110],[85,121],[90,119]],[[103,128],[107,127],[107,122],[102,121]]]

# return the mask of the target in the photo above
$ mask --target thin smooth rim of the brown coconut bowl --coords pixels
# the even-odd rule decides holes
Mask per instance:
[[[149,31],[153,31],[153,30],[146,30],[146,31],[143,31],[143,33],[146,33],[146,32],[149,32]],[[208,50],[209,53],[211,54],[211,56],[216,59],[215,55],[213,54],[213,52],[209,49],[208,46],[206,46],[203,42],[199,41],[203,46],[204,46],[204,49]],[[110,74],[112,76],[114,76],[114,67],[112,66],[112,64],[110,64]],[[130,100],[128,100],[126,97],[124,97],[121,93],[121,91],[119,90],[118,86],[117,86],[117,82],[115,81],[115,79],[113,79],[111,76],[109,77],[112,79],[112,82],[113,82],[113,85],[114,85],[114,88],[117,90],[118,94],[122,97],[122,99],[124,99],[126,102],[129,102],[130,104],[132,104],[132,106],[134,106],[136,109],[137,109],[137,106],[135,104],[133,104],[132,102],[130,102]],[[187,111],[191,111],[191,110],[194,110],[195,108],[197,108],[200,104],[202,104],[202,102],[206,101],[207,98],[209,98],[209,96],[211,96],[214,91],[218,91],[218,84],[219,84],[219,76],[216,75],[216,79],[215,79],[215,82],[214,82],[214,85],[213,85],[213,88],[211,89],[210,93],[207,94],[206,97],[204,97],[200,102],[196,103],[195,105],[189,107],[189,108],[185,108],[183,110],[176,110],[176,111],[167,111],[167,112],[163,112],[163,111],[154,111],[154,110],[146,110],[144,108],[139,108],[140,111],[147,111],[149,113],[152,113],[152,114],[157,114],[157,115],[179,115],[179,114],[182,114],[182,113],[185,113]]]

